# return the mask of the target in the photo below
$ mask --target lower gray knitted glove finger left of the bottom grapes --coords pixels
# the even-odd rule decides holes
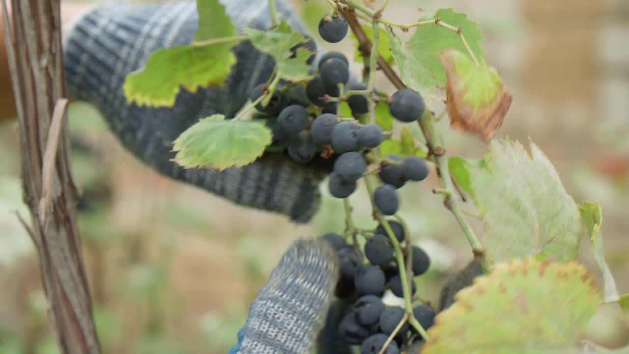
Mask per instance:
[[[229,353],[310,353],[338,273],[338,258],[325,241],[293,243],[251,304],[238,344]]]

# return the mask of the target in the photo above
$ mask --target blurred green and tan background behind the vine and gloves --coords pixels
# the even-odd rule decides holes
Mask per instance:
[[[316,33],[326,2],[292,2]],[[532,139],[577,202],[601,203],[607,260],[619,290],[629,293],[629,1],[397,0],[384,16],[413,22],[445,7],[479,21],[486,60],[513,93],[499,135]],[[353,55],[349,40],[323,46]],[[377,86],[394,91],[382,77]],[[84,256],[105,353],[225,353],[287,246],[343,229],[342,203],[326,188],[315,220],[294,226],[159,176],[122,149],[89,105],[73,103],[69,117],[72,167],[85,197]],[[480,140],[452,132],[447,119],[440,126],[450,156],[486,152]],[[16,123],[0,126],[0,354],[55,353],[37,258],[14,214],[28,217],[17,139]],[[431,193],[435,186],[434,171],[404,186],[401,214],[433,259],[417,280],[421,297],[437,303],[445,278],[471,256],[452,215]],[[374,227],[364,188],[350,200],[355,222]],[[477,220],[470,222],[481,232]],[[582,250],[579,259],[600,284],[585,237]],[[626,345],[629,321],[603,307],[584,338]]]

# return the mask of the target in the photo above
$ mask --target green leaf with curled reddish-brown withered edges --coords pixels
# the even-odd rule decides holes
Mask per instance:
[[[447,50],[441,61],[448,78],[446,107],[450,126],[491,139],[503,124],[513,96],[493,67],[477,66],[458,50]]]

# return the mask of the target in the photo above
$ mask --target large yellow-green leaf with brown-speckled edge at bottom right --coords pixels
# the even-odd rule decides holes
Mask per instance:
[[[437,314],[421,353],[540,353],[576,345],[600,304],[594,278],[575,261],[498,263]]]

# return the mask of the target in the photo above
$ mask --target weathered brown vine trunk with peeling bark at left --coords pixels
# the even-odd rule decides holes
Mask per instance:
[[[60,353],[100,353],[70,174],[60,0],[11,0],[11,20],[6,0],[2,3],[24,200],[30,208],[48,320]]]

